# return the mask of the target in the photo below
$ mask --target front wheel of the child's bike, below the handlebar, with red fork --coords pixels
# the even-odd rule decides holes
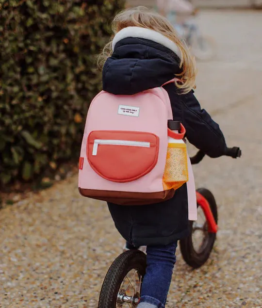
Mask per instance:
[[[217,206],[213,194],[205,188],[200,188],[197,192],[207,199],[217,223]],[[180,240],[182,257],[193,268],[198,268],[207,261],[216,239],[216,233],[208,231],[207,220],[200,206],[197,206],[197,214],[197,221],[190,222],[190,235]]]

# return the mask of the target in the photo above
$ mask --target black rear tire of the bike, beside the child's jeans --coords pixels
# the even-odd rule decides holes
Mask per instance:
[[[115,308],[117,294],[125,276],[135,269],[141,277],[146,274],[146,255],[140,250],[128,250],[119,255],[110,266],[102,284],[98,308]]]

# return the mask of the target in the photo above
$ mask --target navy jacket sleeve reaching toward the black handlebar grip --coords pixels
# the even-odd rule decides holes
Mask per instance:
[[[201,109],[194,91],[182,95],[182,123],[188,141],[210,157],[226,153],[226,141],[219,125],[204,109]]]

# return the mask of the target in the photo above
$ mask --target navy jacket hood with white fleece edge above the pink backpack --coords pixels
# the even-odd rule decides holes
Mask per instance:
[[[103,67],[103,90],[133,95],[159,87],[180,73],[180,49],[164,35],[140,27],[116,33]]]

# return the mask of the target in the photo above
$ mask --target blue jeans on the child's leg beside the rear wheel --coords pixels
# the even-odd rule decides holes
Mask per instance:
[[[177,245],[176,242],[147,246],[147,270],[137,308],[164,308],[176,263]]]

